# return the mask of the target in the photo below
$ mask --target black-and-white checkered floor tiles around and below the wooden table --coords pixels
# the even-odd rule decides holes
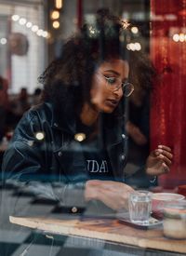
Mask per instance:
[[[39,231],[33,231],[26,227],[11,224],[8,216],[10,209],[15,209],[15,188],[0,190],[6,196],[1,199],[0,218],[0,256],[156,256],[156,255],[179,255],[170,253],[156,253],[155,251],[134,249],[105,241],[71,236],[51,236]],[[30,216],[51,216],[60,218],[60,213],[54,213],[55,205],[51,202],[38,202],[33,200],[32,195],[21,196],[19,201],[20,214],[26,212]]]

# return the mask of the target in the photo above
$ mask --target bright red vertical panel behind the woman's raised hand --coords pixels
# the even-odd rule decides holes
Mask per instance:
[[[163,143],[172,148],[172,168],[159,184],[174,188],[186,183],[186,41],[176,43],[172,34],[185,30],[186,0],[152,0],[151,5],[162,19],[152,20],[151,57],[160,75],[152,95],[151,148]],[[167,14],[177,20],[167,20]]]

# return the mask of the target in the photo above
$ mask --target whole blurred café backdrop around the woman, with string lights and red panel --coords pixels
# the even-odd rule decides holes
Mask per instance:
[[[127,50],[149,55],[158,73],[151,94],[140,85],[130,99],[126,172],[166,143],[174,163],[159,184],[174,188],[186,182],[186,0],[0,0],[1,161],[20,117],[41,101],[38,76],[84,21],[94,36],[100,8],[130,23]]]

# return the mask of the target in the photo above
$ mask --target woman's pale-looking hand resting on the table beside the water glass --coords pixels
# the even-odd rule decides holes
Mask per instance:
[[[86,182],[86,201],[100,200],[111,209],[127,209],[128,195],[134,191],[123,182],[92,180]]]

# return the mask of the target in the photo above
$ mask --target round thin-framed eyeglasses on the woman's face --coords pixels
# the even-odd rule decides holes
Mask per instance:
[[[119,88],[122,88],[125,97],[129,97],[134,91],[134,86],[132,84],[128,82],[122,82],[122,80],[119,77],[113,77],[113,76],[108,77],[104,74],[101,74],[101,75],[104,76],[107,82],[108,88],[111,89],[112,91],[116,91]]]

